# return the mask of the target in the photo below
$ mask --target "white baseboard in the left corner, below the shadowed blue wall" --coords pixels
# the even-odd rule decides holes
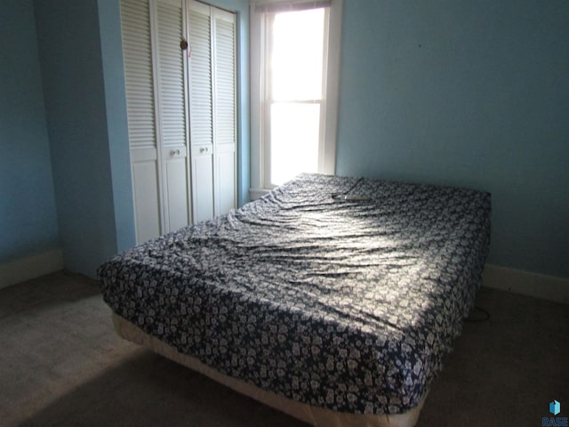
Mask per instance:
[[[0,264],[0,288],[59,270],[63,270],[63,253],[60,249]]]

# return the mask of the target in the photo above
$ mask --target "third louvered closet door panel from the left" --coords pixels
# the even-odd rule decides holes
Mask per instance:
[[[194,222],[214,215],[211,8],[189,5],[189,115]]]

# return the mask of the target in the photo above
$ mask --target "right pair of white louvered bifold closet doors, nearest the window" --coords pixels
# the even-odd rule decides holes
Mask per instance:
[[[236,207],[236,15],[189,3],[194,221]]]

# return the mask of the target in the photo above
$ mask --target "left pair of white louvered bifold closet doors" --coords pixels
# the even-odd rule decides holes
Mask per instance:
[[[137,243],[190,223],[184,12],[179,0],[121,0]]]

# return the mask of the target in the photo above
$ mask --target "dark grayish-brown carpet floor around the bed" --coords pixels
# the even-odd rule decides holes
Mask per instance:
[[[465,323],[418,425],[567,416],[569,306],[484,287],[477,305],[491,318]],[[0,425],[305,424],[121,340],[97,284],[61,272],[0,290]]]

